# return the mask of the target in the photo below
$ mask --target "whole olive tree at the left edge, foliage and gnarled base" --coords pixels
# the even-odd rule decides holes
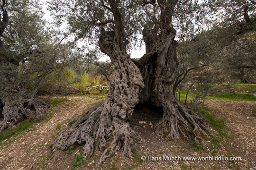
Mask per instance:
[[[72,56],[46,28],[37,0],[1,2],[0,131],[47,114],[49,105],[36,94],[42,81],[66,67]]]

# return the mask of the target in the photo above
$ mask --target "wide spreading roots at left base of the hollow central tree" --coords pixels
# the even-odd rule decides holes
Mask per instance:
[[[103,103],[94,105],[69,129],[62,132],[51,148],[54,152],[57,149],[65,151],[74,148],[76,144],[84,144],[83,154],[88,158],[97,146],[103,151],[97,166],[101,166],[118,151],[123,153],[123,157],[131,156],[132,147],[140,141],[140,137],[130,128],[128,122],[117,117],[113,117],[111,121],[108,115]]]

